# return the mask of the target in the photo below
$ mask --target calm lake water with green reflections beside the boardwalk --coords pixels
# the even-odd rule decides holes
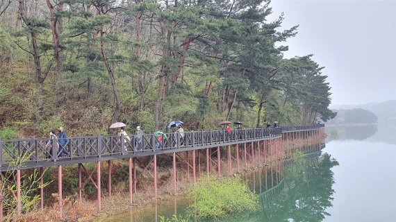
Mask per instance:
[[[246,174],[261,210],[217,221],[396,221],[396,129],[367,127],[340,129],[322,151],[279,166],[282,174],[269,167]],[[158,201],[108,221],[160,221],[189,204]]]

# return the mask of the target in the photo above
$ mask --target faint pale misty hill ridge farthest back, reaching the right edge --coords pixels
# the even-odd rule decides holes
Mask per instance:
[[[379,123],[388,123],[396,126],[396,100],[385,101],[383,103],[368,103],[361,105],[333,105],[333,109],[357,109],[361,108],[373,112],[378,117]]]

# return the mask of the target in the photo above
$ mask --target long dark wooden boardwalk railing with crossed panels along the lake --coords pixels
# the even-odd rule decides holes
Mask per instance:
[[[255,142],[280,137],[283,132],[321,127],[322,124],[231,130],[231,133],[224,130],[196,131],[185,132],[183,137],[179,133],[166,133],[163,142],[154,134],[142,137],[129,135],[129,139],[124,135],[69,137],[64,147],[60,146],[60,139],[0,140],[0,171],[6,171],[10,162],[22,156],[28,156],[28,160],[21,169],[49,167]],[[65,151],[61,152],[62,149]]]

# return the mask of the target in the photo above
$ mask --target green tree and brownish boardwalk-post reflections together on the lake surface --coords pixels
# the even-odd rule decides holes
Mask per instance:
[[[315,152],[296,161],[290,160],[284,166],[279,161],[273,167],[246,173],[244,178],[249,187],[260,197],[261,210],[216,221],[322,221],[329,215],[326,210],[333,200],[331,168],[336,165],[338,162],[329,154]],[[160,203],[109,221],[159,221],[158,215],[165,218],[171,218],[172,214],[183,216],[190,205],[186,198],[161,200]]]

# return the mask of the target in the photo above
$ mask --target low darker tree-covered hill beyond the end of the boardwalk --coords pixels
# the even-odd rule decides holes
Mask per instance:
[[[352,110],[331,110],[337,112],[334,119],[327,121],[327,125],[359,125],[377,123],[378,117],[368,110],[361,108]]]

